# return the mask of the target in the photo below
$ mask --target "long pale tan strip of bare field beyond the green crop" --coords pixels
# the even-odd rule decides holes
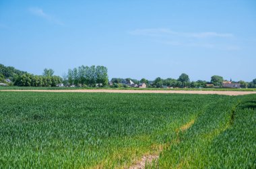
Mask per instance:
[[[51,92],[51,93],[180,93],[201,95],[249,95],[256,91],[154,91],[154,90],[117,90],[117,89],[81,89],[81,90],[0,90],[14,92]]]

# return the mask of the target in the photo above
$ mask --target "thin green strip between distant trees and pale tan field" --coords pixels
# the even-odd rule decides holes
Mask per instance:
[[[256,89],[161,89],[161,88],[110,88],[110,87],[0,87],[0,90],[81,90],[81,89],[113,89],[113,90],[148,90],[148,91],[256,91]]]

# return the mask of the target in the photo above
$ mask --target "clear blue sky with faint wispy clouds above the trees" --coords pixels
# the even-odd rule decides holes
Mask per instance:
[[[109,78],[256,78],[256,1],[0,0],[0,63]]]

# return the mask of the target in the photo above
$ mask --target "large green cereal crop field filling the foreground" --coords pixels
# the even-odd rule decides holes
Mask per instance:
[[[256,168],[256,95],[0,91],[0,168]]]

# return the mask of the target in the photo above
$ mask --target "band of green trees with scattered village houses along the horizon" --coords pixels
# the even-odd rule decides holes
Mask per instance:
[[[256,78],[251,82],[243,80],[224,80],[222,76],[214,75],[210,81],[191,81],[189,75],[183,73],[178,79],[156,78],[155,80],[141,80],[132,78],[112,78],[108,80],[107,68],[104,66],[79,66],[69,69],[67,74],[55,76],[53,69],[45,68],[42,75],[34,75],[17,70],[12,66],[0,64],[0,86],[18,87],[109,87],[109,88],[162,88],[162,89],[203,89],[203,88],[229,88],[247,89],[256,88]]]

